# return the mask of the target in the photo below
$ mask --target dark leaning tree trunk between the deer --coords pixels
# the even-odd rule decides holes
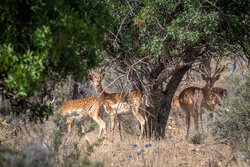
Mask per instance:
[[[159,104],[160,106],[154,106],[155,111],[159,111],[157,112],[156,118],[149,117],[149,127],[152,128],[150,136],[152,136],[153,133],[157,139],[165,137],[165,128],[171,110],[172,98],[181,83],[184,74],[190,69],[190,67],[191,66],[184,66],[183,68],[180,68],[171,77],[166,90],[162,93],[161,103]]]

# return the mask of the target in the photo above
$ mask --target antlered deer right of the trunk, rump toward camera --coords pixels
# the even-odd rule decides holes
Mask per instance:
[[[204,66],[200,68],[202,74],[201,77],[206,81],[206,85],[203,88],[199,87],[188,87],[184,89],[178,98],[178,103],[174,102],[173,104],[178,104],[180,109],[185,112],[185,121],[187,126],[186,138],[188,138],[189,128],[190,128],[190,116],[193,117],[195,128],[199,128],[199,116],[202,124],[202,113],[201,109],[207,108],[209,106],[214,106],[218,104],[217,97],[218,89],[213,90],[213,86],[217,80],[220,78],[220,73],[225,69],[225,66],[218,68],[218,63],[215,67],[215,72],[211,75],[210,61],[206,60]],[[218,93],[219,94],[219,93]],[[220,96],[220,95],[219,95]],[[176,101],[176,100],[175,100]]]

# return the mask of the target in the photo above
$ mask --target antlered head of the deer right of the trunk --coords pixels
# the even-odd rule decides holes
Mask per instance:
[[[211,59],[205,59],[203,62],[203,66],[201,66],[200,71],[201,71],[201,78],[206,81],[206,85],[208,86],[209,89],[211,89],[215,82],[219,80],[220,78],[220,73],[225,69],[225,66],[222,68],[218,68],[218,62],[216,61],[216,67],[214,74],[211,75],[211,67],[210,67],[210,62]]]

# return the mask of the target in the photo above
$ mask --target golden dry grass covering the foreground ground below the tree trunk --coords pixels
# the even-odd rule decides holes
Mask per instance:
[[[116,136],[113,143],[104,142],[91,155],[92,161],[101,161],[103,166],[225,166],[233,153],[229,146],[216,143],[206,131],[202,144],[192,144],[185,140],[183,121],[168,125],[167,138],[164,140],[139,140],[134,135],[124,134],[123,141]],[[192,133],[192,132],[191,132]],[[92,136],[94,138],[94,136]],[[151,147],[145,144],[151,143]],[[136,148],[132,148],[136,144]],[[137,155],[140,151],[141,154]],[[132,157],[129,158],[128,156]],[[232,160],[230,165],[239,166]]]

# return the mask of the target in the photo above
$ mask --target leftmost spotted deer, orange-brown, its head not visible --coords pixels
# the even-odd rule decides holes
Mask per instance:
[[[100,126],[98,135],[98,138],[100,138],[103,131],[104,135],[106,135],[106,123],[101,118],[102,110],[100,107],[100,99],[98,99],[96,96],[93,96],[79,100],[70,100],[66,102],[59,110],[57,110],[57,113],[67,117],[66,120],[68,124],[68,132],[72,130],[72,125],[75,120],[95,120]],[[83,122],[82,128],[84,130]]]

